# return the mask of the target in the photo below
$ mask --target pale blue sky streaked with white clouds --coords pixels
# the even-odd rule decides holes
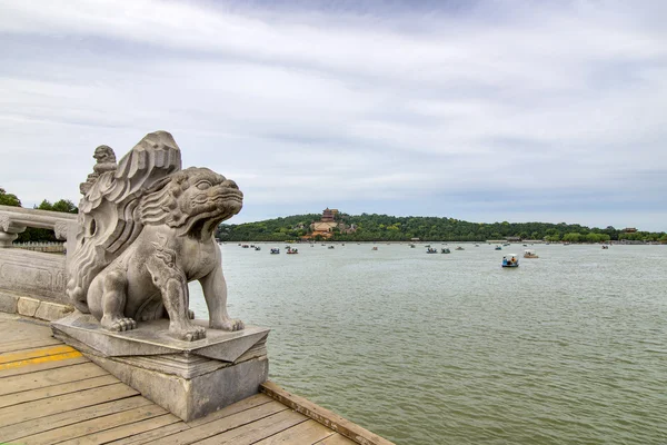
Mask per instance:
[[[229,222],[319,212],[667,230],[667,1],[0,0],[0,187],[78,202],[170,131]]]

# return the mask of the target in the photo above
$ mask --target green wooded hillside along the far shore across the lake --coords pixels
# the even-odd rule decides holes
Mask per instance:
[[[319,214],[308,214],[240,225],[222,224],[216,237],[227,241],[296,240],[310,236],[310,224],[318,221],[320,217]],[[667,243],[667,234],[664,231],[626,234],[623,229],[611,226],[590,228],[566,222],[470,222],[447,217],[396,217],[377,214],[338,214],[336,219],[356,227],[356,231],[351,234],[334,228],[330,239],[337,241],[409,241],[412,238],[424,241],[485,241],[516,237],[552,243],[605,243],[621,239]]]

